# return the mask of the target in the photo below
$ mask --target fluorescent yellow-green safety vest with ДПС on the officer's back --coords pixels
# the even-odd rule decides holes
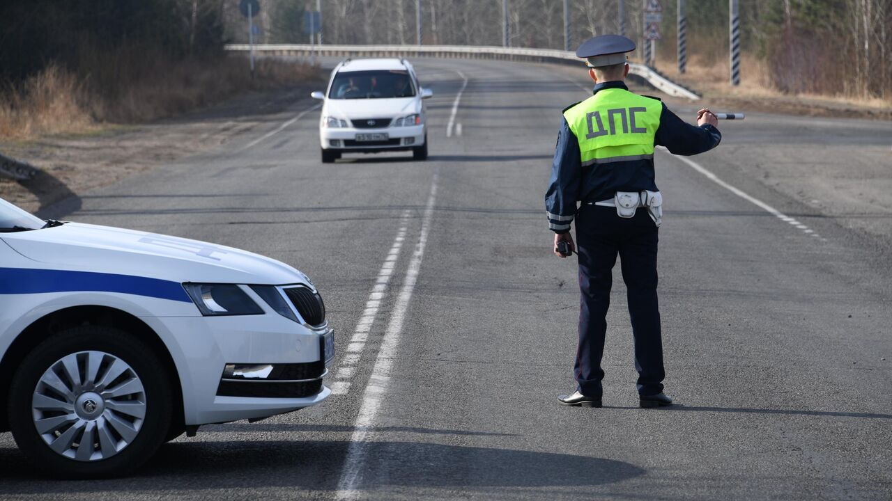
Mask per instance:
[[[579,142],[582,167],[624,160],[653,160],[663,103],[621,88],[599,90],[564,111]]]

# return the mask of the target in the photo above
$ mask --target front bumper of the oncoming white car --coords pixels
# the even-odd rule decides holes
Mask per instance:
[[[410,150],[425,144],[425,126],[383,128],[329,128],[319,133],[323,149],[333,152]]]

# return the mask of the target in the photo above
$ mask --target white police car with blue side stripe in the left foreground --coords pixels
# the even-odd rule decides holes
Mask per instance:
[[[293,267],[0,200],[0,430],[47,472],[120,475],[200,424],[318,404],[334,347]]]

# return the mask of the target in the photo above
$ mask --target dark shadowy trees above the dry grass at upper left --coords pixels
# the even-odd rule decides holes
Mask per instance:
[[[171,60],[220,53],[219,7],[226,2],[214,4],[217,9],[205,0],[7,0],[0,4],[0,70],[21,80],[49,64],[95,70],[92,60],[122,51]]]

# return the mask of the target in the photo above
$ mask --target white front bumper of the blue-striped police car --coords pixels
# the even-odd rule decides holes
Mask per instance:
[[[277,415],[325,400],[334,331],[276,313],[143,318],[168,345],[187,425]],[[327,339],[326,339],[327,338]]]

